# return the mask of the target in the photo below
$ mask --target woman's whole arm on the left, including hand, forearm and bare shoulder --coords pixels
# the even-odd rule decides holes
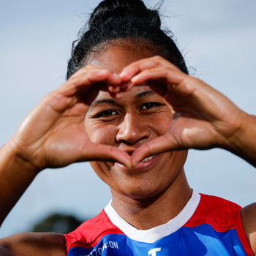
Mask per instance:
[[[105,159],[129,166],[129,155],[116,147],[91,143],[84,126],[89,103],[108,84],[121,79],[113,72],[88,66],[45,96],[11,140],[0,149],[0,223],[41,170],[73,162]],[[92,92],[91,92],[92,91]],[[86,98],[86,99],[85,99]],[[88,101],[88,102],[87,102]],[[1,240],[6,255],[49,255],[63,247],[64,236],[20,234]],[[63,250],[62,250],[63,251]],[[61,254],[63,255],[63,253]]]

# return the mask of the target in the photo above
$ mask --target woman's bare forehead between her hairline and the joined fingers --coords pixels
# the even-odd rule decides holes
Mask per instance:
[[[109,45],[106,50],[101,53],[94,53],[90,56],[87,64],[103,67],[119,74],[124,67],[127,67],[127,65],[132,62],[146,59],[154,55],[155,53],[148,50],[145,45],[132,45],[131,42],[127,42],[126,45],[124,45],[124,43],[121,45],[115,43]]]

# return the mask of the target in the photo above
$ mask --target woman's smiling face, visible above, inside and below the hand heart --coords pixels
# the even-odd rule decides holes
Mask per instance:
[[[104,67],[117,74],[128,64],[153,56],[146,48],[128,50],[110,46],[89,59],[89,64]],[[143,143],[164,135],[172,121],[170,106],[149,86],[135,86],[113,99],[99,91],[86,114],[85,125],[94,143],[116,146],[132,154]],[[172,151],[149,157],[128,170],[117,162],[91,162],[91,166],[110,186],[112,192],[136,199],[152,197],[169,187],[183,169],[187,151]]]

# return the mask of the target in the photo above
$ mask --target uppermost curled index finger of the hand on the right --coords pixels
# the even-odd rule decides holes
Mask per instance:
[[[145,69],[151,69],[154,67],[169,67],[174,70],[179,70],[175,65],[171,64],[166,59],[160,56],[154,56],[147,59],[142,59],[140,61],[135,61],[132,64],[129,64],[127,67],[123,69],[123,71],[119,74],[119,77],[123,81],[130,80],[136,74],[142,72]]]

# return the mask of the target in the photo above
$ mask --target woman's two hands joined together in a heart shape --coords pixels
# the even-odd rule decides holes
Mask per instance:
[[[92,143],[84,117],[99,90],[118,98],[120,92],[142,84],[151,86],[176,112],[165,135],[144,143],[132,156],[116,146]],[[22,157],[39,170],[93,160],[120,162],[130,168],[165,151],[210,148],[216,143],[213,127],[224,115],[222,99],[222,94],[159,56],[135,61],[119,75],[89,65],[42,99],[23,121],[14,140],[23,148]],[[224,103],[230,108],[226,98]]]

